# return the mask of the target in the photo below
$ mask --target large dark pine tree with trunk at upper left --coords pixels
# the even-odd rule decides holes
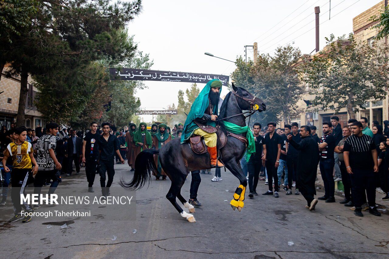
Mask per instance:
[[[88,83],[83,78],[95,79],[93,71],[83,70],[91,62],[120,62],[137,47],[128,44],[123,28],[140,12],[140,0],[37,0],[36,8],[31,25],[20,35],[13,34],[12,46],[2,49],[2,59],[6,57],[11,64],[9,73],[21,76],[18,125],[24,123],[29,74],[39,82],[41,93],[74,97],[73,93],[79,93],[74,90]],[[75,104],[77,98],[82,97],[66,102]]]

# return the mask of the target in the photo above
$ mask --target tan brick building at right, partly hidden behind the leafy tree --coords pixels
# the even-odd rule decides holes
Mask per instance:
[[[378,15],[379,11],[384,8],[385,1],[382,1],[368,10],[357,15],[353,19],[353,31],[356,40],[359,40],[366,44],[372,44],[374,37],[377,35],[378,30],[372,29],[371,27],[376,24],[376,22],[369,21],[370,17],[373,15]],[[347,40],[343,44],[347,44]],[[375,44],[385,44],[385,40],[380,40],[375,42]],[[324,47],[325,51],[326,47]],[[316,53],[317,55],[319,53]],[[300,101],[298,101],[298,107],[305,108],[307,104],[305,101],[310,101],[315,98],[314,95],[304,94]],[[305,101],[304,101],[305,100]],[[309,109],[305,109],[305,112],[302,112],[300,116],[292,117],[291,122],[298,122],[299,125],[313,124],[318,128],[317,134],[321,137],[322,131],[321,126],[322,122],[329,121],[330,117],[335,114],[334,110],[319,110],[319,112],[313,112]],[[340,124],[347,124],[349,115],[347,114],[346,108],[342,108],[336,116],[340,119]],[[368,118],[370,125],[373,121],[378,121],[380,124],[383,124],[384,120],[388,120],[388,95],[384,100],[366,100],[366,110],[361,110],[356,113],[356,119],[360,117]],[[308,121],[310,121],[308,123]],[[284,123],[281,123],[283,126]]]

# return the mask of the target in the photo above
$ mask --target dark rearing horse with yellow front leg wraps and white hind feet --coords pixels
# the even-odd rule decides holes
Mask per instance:
[[[218,124],[221,129],[226,132],[223,126],[223,121],[234,123],[238,126],[246,126],[245,116],[242,110],[254,110],[256,107],[259,112],[266,110],[266,105],[259,98],[256,98],[245,89],[232,85],[233,91],[229,92],[224,98],[220,109]],[[257,106],[258,105],[258,106]],[[226,118],[226,119],[224,119]],[[246,133],[237,134],[238,136],[246,137]],[[233,205],[234,199],[231,201],[231,207],[240,211],[243,207],[244,190],[247,186],[247,180],[240,168],[240,159],[244,155],[246,145],[238,140],[238,138],[227,136],[226,145],[220,150],[223,163],[235,175],[240,182],[240,186],[234,194],[235,201],[239,201],[238,205]],[[189,144],[180,144],[180,139],[175,138],[168,142],[159,150],[147,149],[140,152],[135,160],[135,172],[131,182],[125,182],[122,178],[119,184],[128,190],[142,188],[151,180],[151,173],[157,172],[153,156],[159,154],[159,161],[163,170],[172,181],[166,198],[173,204],[180,215],[186,218],[189,222],[196,222],[193,215],[188,214],[177,204],[176,198],[189,209],[189,212],[195,212],[195,208],[190,205],[180,194],[181,187],[185,183],[185,179],[190,171],[209,169],[210,156],[208,153],[199,155],[192,151]],[[242,187],[241,187],[242,186]],[[238,191],[238,189],[240,191]],[[236,203],[238,204],[238,203]]]

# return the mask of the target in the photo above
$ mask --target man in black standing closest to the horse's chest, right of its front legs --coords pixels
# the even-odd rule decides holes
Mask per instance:
[[[253,198],[254,195],[258,195],[256,192],[256,188],[258,185],[259,171],[261,171],[262,165],[262,149],[264,157],[266,157],[266,145],[265,138],[259,135],[259,131],[261,130],[261,124],[255,122],[252,126],[252,130],[254,131],[254,140],[255,140],[255,153],[251,155],[249,163],[247,163],[247,170],[249,172],[249,197]]]

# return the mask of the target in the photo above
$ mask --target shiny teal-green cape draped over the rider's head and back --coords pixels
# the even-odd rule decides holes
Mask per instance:
[[[209,106],[209,91],[212,87],[219,87],[219,98],[221,94],[221,87],[222,82],[219,79],[212,79],[210,80],[204,88],[201,90],[201,92],[198,94],[196,100],[193,102],[191,111],[189,112],[188,116],[186,117],[186,121],[184,124],[182,136],[181,136],[181,144],[184,143],[186,140],[188,140],[192,134],[193,131],[199,128],[197,124],[194,122],[195,119],[201,118],[204,115],[205,109]],[[217,114],[217,107],[214,107],[213,110],[214,114]],[[214,121],[208,121],[207,125],[215,127],[216,124]]]

